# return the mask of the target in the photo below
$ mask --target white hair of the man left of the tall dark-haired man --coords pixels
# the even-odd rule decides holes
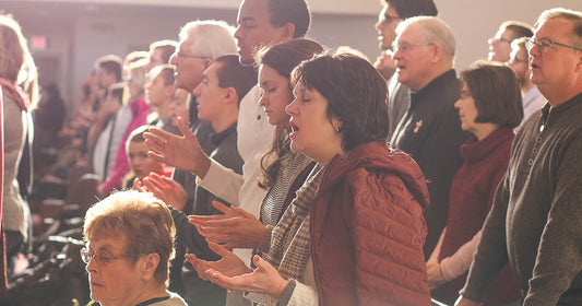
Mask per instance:
[[[224,21],[205,20],[187,23],[180,31],[180,40],[191,39],[189,46],[193,56],[212,60],[237,52],[237,43],[233,36],[235,28]]]

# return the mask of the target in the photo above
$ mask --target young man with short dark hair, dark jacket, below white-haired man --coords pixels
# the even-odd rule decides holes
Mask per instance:
[[[237,149],[237,120],[239,103],[242,96],[254,85],[257,72],[252,67],[240,64],[236,55],[222,56],[203,72],[202,82],[193,93],[198,102],[198,118],[212,125],[213,132],[210,140],[213,150],[210,157],[228,167],[236,174],[242,170],[242,158]],[[188,214],[218,214],[212,201],[228,201],[215,196],[206,189],[197,186],[193,199],[193,210]],[[205,238],[195,227],[188,223],[186,214],[171,210],[178,228],[177,243],[186,246],[186,252],[195,254],[209,260],[217,260],[216,255],[206,246]],[[183,260],[183,255],[181,257]],[[224,305],[226,291],[213,283],[202,281],[191,264],[183,262],[181,283],[183,298],[189,305]]]

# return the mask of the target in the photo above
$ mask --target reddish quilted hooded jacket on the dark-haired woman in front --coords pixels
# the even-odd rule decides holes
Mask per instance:
[[[428,202],[420,168],[401,151],[371,142],[335,156],[311,208],[320,305],[430,305]]]

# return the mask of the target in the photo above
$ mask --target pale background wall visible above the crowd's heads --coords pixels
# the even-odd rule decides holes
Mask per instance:
[[[134,48],[145,49],[156,39],[177,39],[179,27],[190,20],[218,19],[234,24],[238,3],[238,0],[102,0],[99,3],[132,5],[83,4],[86,8],[79,9],[82,8],[79,3],[91,1],[67,1],[71,3],[0,0],[0,9],[14,13],[25,35],[48,36],[49,49],[43,55],[59,55],[62,59],[62,71],[56,81],[61,84],[61,91],[70,103],[78,102],[81,84],[97,57],[105,54],[124,56]],[[381,9],[379,0],[308,1],[314,12],[309,37],[330,47],[349,45],[370,59],[376,58],[379,50],[373,24]],[[435,1],[439,16],[451,25],[455,34],[459,71],[487,56],[487,38],[506,20],[533,24],[543,10],[554,7],[582,11],[581,0]],[[138,3],[146,5],[138,7]],[[153,5],[161,3],[165,7]],[[78,9],[69,13],[69,7]],[[108,9],[99,11],[104,7]]]

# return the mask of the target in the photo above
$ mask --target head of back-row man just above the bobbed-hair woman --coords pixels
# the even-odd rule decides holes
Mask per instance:
[[[523,22],[506,21],[500,26],[494,37],[489,38],[488,60],[506,62],[511,54],[511,42],[520,37],[532,37],[534,28]]]

